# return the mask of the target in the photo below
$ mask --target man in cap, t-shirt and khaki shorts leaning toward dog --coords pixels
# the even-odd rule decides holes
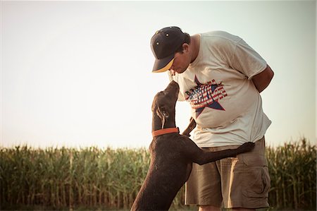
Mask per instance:
[[[260,92],[273,71],[240,37],[214,31],[188,35],[163,28],[151,38],[153,72],[168,71],[180,85],[197,123],[193,140],[205,150],[256,143],[251,152],[199,166],[186,183],[185,204],[199,210],[255,210],[268,207],[270,177],[264,134],[271,121],[262,110]]]

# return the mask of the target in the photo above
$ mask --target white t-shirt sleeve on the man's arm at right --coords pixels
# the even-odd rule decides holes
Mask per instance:
[[[249,80],[267,66],[266,61],[242,39],[237,42],[230,60],[232,68],[243,73]]]

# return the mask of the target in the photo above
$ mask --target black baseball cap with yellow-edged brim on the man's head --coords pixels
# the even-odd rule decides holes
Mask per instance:
[[[177,26],[156,31],[151,38],[151,49],[155,56],[153,73],[165,72],[172,66],[175,52],[185,42],[185,37]]]

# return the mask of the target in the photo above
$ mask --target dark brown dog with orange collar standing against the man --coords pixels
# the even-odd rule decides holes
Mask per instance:
[[[166,90],[154,97],[151,107],[154,138],[149,146],[151,162],[131,210],[168,210],[175,195],[189,178],[192,162],[206,164],[254,148],[254,143],[244,143],[235,150],[201,150],[189,138],[190,131],[196,126],[194,119],[180,135],[175,126],[175,104],[179,90],[178,83],[172,80]]]

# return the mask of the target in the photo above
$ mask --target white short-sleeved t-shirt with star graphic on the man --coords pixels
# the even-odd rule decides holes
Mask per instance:
[[[195,61],[184,73],[168,73],[180,85],[178,100],[187,100],[192,107],[197,123],[194,142],[199,147],[218,147],[259,140],[271,121],[263,113],[251,78],[266,68],[266,61],[228,32],[200,37]]]

